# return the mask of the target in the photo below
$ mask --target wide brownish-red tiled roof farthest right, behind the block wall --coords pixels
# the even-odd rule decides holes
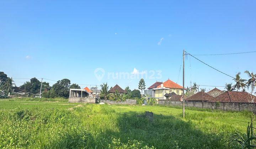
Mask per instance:
[[[251,103],[252,98],[254,98],[254,103],[256,103],[256,96],[247,92],[226,91],[217,96],[213,101],[229,103]]]

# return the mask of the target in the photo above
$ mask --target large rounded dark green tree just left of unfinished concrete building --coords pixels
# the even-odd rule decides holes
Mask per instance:
[[[70,89],[70,80],[62,79],[53,84],[53,89],[58,97],[68,98]]]

